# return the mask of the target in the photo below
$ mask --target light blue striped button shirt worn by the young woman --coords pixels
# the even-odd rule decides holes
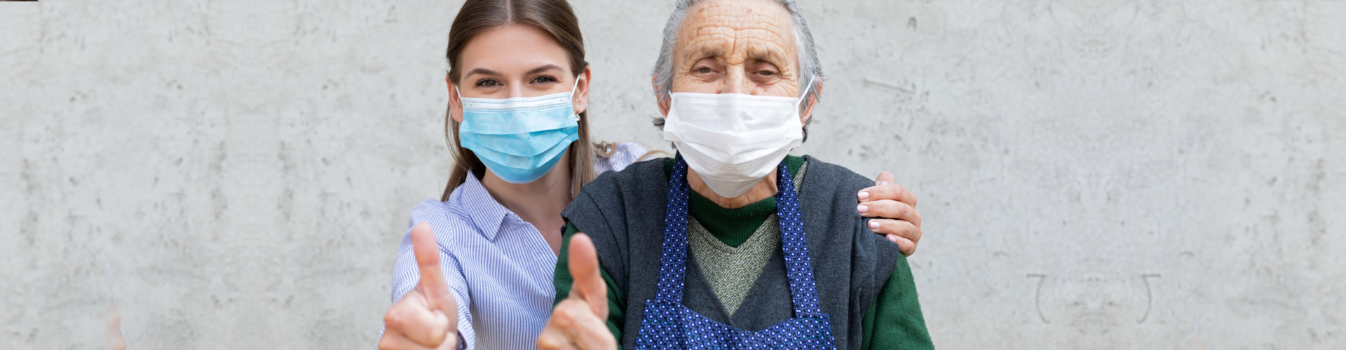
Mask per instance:
[[[634,143],[614,151],[595,160],[596,172],[626,168],[646,152]],[[411,226],[419,222],[429,223],[439,241],[440,269],[458,302],[459,349],[536,349],[556,295],[556,253],[542,233],[467,176],[448,201],[425,199],[412,209],[397,248],[393,303],[420,283],[411,241]]]

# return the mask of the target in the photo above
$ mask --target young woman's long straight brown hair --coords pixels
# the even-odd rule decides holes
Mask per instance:
[[[454,27],[448,30],[448,51],[444,54],[450,66],[448,79],[458,85],[458,79],[462,78],[459,63],[462,63],[463,47],[467,46],[468,40],[478,34],[510,24],[528,24],[551,34],[569,54],[571,71],[575,78],[579,78],[588,69],[588,62],[584,61],[584,38],[580,35],[580,22],[565,0],[467,0],[458,11]],[[459,143],[459,123],[454,121],[452,108],[454,105],[450,104],[448,110],[444,112],[444,137],[448,139],[448,152],[454,156],[455,166],[448,175],[448,184],[444,187],[444,197],[440,201],[448,201],[454,188],[463,184],[467,176],[478,176],[486,171],[486,166],[472,153],[472,149],[467,149]],[[594,180],[595,176],[594,152],[596,145],[590,143],[588,110],[579,114],[579,140],[571,144],[571,156],[567,159],[571,164],[572,198],[580,193],[580,187]],[[604,145],[598,145],[596,149],[604,148]]]

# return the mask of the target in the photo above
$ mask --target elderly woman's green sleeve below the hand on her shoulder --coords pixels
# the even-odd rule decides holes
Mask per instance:
[[[860,349],[934,349],[906,257],[898,258],[898,267],[864,314],[861,327]]]

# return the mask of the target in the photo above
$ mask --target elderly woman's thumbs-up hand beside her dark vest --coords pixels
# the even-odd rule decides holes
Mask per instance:
[[[556,304],[552,318],[537,335],[540,350],[608,350],[616,339],[607,330],[607,284],[598,271],[594,241],[583,233],[571,237],[571,295]]]

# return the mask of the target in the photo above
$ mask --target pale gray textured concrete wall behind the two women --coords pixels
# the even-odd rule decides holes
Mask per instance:
[[[0,349],[369,349],[458,1],[0,4]],[[668,148],[670,1],[576,0]],[[805,0],[812,153],[921,197],[942,349],[1346,347],[1346,4]]]

